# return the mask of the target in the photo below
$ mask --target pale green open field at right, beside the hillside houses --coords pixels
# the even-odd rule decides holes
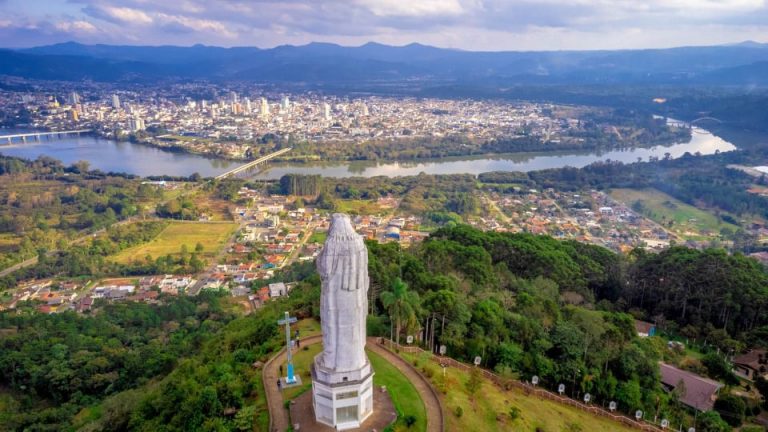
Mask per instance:
[[[643,215],[686,239],[719,235],[722,228],[730,230],[738,228],[736,225],[723,222],[714,214],[688,205],[656,189],[613,189],[610,195],[613,199],[629,206],[637,207],[635,203],[641,203]]]

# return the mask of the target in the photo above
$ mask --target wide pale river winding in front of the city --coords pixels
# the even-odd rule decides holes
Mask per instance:
[[[6,132],[0,132],[4,135]],[[467,158],[445,158],[421,160],[418,162],[330,162],[330,163],[270,163],[252,174],[252,178],[274,180],[284,174],[322,174],[326,177],[374,177],[408,176],[421,172],[426,174],[479,174],[489,171],[535,171],[564,166],[583,167],[593,162],[607,159],[622,162],[635,162],[638,158],[663,158],[669,153],[677,158],[686,152],[694,154],[713,154],[717,151],[735,150],[736,146],[710,132],[694,128],[690,142],[671,146],[655,146],[613,150],[603,153],[584,152],[546,152],[515,153],[508,155],[480,156]],[[126,172],[140,176],[174,175],[186,176],[195,172],[202,176],[215,176],[226,172],[241,162],[206,158],[203,156],[169,152],[140,144],[117,142],[90,136],[66,137],[40,142],[28,140],[26,144],[0,145],[0,153],[9,156],[35,159],[40,155],[72,164],[79,160],[90,162],[92,168],[102,171]]]

